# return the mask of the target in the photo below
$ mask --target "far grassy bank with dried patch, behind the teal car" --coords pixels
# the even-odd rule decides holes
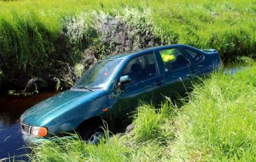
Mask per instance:
[[[255,6],[235,0],[0,1],[0,88],[21,87],[32,77],[74,82],[106,55],[161,44],[217,49],[225,60],[255,54]]]

